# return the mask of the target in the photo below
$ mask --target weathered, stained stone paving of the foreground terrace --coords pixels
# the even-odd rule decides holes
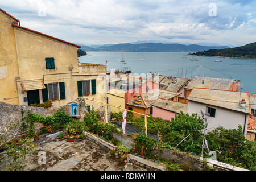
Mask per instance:
[[[25,171],[145,171],[134,164],[117,163],[109,156],[109,149],[90,140],[74,142],[58,139],[36,148],[38,154],[27,155]],[[45,160],[44,160],[45,159]]]

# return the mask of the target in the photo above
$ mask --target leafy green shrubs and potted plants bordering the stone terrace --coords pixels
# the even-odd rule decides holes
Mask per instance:
[[[118,146],[116,150],[109,152],[109,155],[118,163],[127,163],[128,154],[138,154],[155,162],[166,164],[167,170],[192,170],[188,163],[178,164],[160,159],[158,155],[152,154],[152,150],[157,149],[162,152],[163,148],[176,148],[175,150],[201,156],[203,143],[201,130],[204,129],[204,122],[197,114],[181,113],[172,121],[148,117],[147,130],[148,133],[159,136],[158,139],[155,139],[143,133],[143,117],[133,119],[133,114],[127,113],[127,122],[142,130],[142,133],[139,134],[128,134],[132,136],[135,143],[131,150],[113,137],[113,133],[121,134],[122,130],[112,123],[100,122],[98,119],[100,114],[96,111],[87,113],[83,121],[72,119],[68,114],[65,114],[64,110],[59,110],[47,117],[30,112],[26,113],[26,117],[24,115],[22,110],[22,121],[13,123],[11,126],[11,129],[20,130],[21,134],[16,137],[2,135],[0,139],[0,164],[1,160],[7,157],[10,164],[6,168],[9,170],[22,169],[20,159],[24,158],[29,152],[35,152],[36,146],[33,140],[37,140],[39,135],[57,131],[60,131],[59,140],[66,140],[67,142],[86,139],[84,131],[96,134],[101,139]],[[122,112],[112,113],[112,119],[122,121]],[[36,129],[35,122],[43,123],[43,127]],[[37,130],[39,131],[36,132]],[[210,131],[205,135],[205,138],[208,141],[209,150],[217,151],[218,161],[254,170],[256,163],[255,142],[246,140],[241,126],[233,130],[219,127]],[[209,157],[205,152],[204,158]]]

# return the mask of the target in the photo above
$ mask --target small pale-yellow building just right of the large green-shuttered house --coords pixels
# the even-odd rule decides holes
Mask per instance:
[[[115,89],[115,88],[109,89],[107,93],[109,104],[125,109],[125,93],[126,93],[126,90]],[[119,111],[123,111],[115,107],[110,107],[110,108],[112,113],[119,113]]]

